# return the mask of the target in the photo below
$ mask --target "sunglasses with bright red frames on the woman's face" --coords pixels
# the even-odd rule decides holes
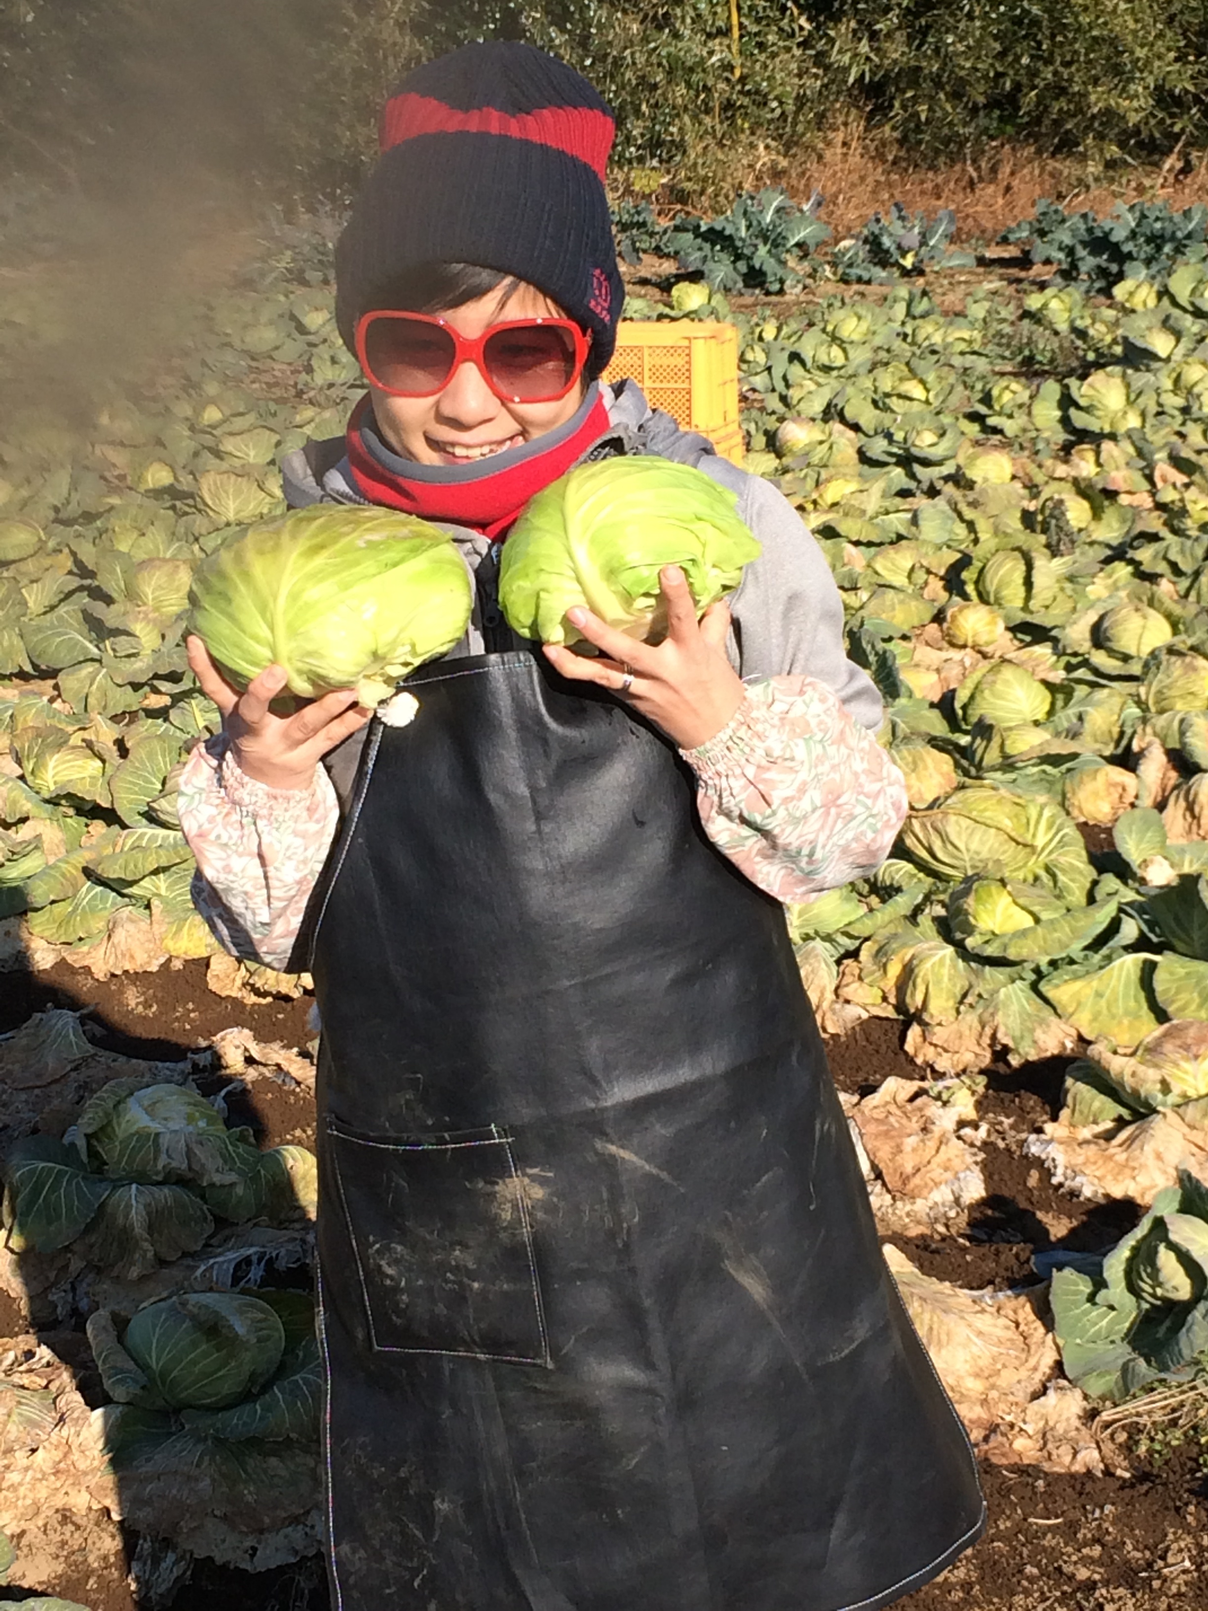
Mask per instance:
[[[588,361],[591,337],[570,319],[507,319],[467,337],[427,313],[361,314],[356,356],[396,398],[432,398],[462,364],[475,364],[501,403],[557,403]]]

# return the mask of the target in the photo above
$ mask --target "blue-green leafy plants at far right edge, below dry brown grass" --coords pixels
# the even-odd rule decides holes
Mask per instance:
[[[1174,211],[1168,201],[1118,203],[1108,217],[1066,213],[1055,201],[1036,203],[1036,216],[999,237],[1029,245],[1032,263],[1050,263],[1055,279],[1078,280],[1107,295],[1121,280],[1165,282],[1176,263],[1205,256],[1208,206]]]

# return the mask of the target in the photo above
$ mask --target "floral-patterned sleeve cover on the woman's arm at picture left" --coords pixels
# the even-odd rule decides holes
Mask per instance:
[[[219,736],[188,757],[179,801],[198,912],[225,950],[288,967],[340,820],[327,772],[309,789],[271,789],[240,772]]]

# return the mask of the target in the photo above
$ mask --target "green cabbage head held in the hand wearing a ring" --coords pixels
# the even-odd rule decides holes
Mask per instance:
[[[499,603],[511,627],[575,643],[567,611],[586,606],[630,638],[667,635],[659,570],[681,565],[697,612],[731,593],[760,553],[738,498],[686,464],[617,458],[546,487],[504,543]]]

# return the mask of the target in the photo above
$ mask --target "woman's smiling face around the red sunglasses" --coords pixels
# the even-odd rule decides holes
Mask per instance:
[[[465,337],[504,319],[562,319],[565,314],[535,285],[517,285],[511,295],[501,287],[441,311],[454,330]],[[396,398],[369,385],[374,417],[385,443],[416,464],[472,464],[519,448],[535,437],[564,425],[583,401],[580,382],[556,403],[501,403],[478,372],[462,364],[436,396]]]

